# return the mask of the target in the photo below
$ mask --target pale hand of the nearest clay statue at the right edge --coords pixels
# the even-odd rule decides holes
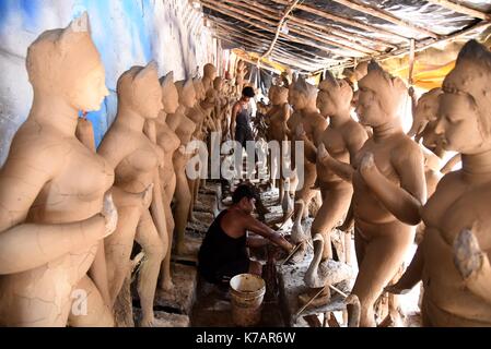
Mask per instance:
[[[478,272],[484,262],[484,253],[470,229],[464,229],[454,240],[454,264],[464,279]]]

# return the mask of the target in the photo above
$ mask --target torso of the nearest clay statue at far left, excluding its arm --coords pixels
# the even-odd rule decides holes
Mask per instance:
[[[58,159],[59,169],[45,184],[31,207],[27,221],[33,224],[63,224],[84,220],[101,212],[102,197],[112,186],[114,172],[106,161],[91,153],[74,136],[65,137],[52,131],[38,129],[27,121],[19,130],[11,146],[11,155],[25,154],[27,148],[49,149],[49,157]],[[42,157],[43,155],[39,154]],[[80,166],[83,164],[83,166]],[[49,299],[60,312],[40,321],[65,326],[70,308],[65,302],[77,284],[86,275],[94,261],[97,243],[72,251],[40,267],[0,277],[2,301],[0,322],[15,325],[23,313],[42,306],[37,299]],[[54,285],[57,287],[54,288]],[[45,292],[48,291],[49,294]],[[4,316],[9,316],[5,318]]]

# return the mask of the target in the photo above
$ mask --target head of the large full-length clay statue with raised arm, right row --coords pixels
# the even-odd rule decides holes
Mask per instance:
[[[369,73],[359,82],[356,113],[360,123],[378,127],[398,117],[407,96],[405,83],[385,72],[375,61],[369,64]]]

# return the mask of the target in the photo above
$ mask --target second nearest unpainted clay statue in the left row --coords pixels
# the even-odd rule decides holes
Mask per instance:
[[[132,67],[125,72],[118,80],[117,94],[116,119],[97,151],[115,168],[115,188],[126,193],[116,202],[116,231],[105,239],[109,292],[114,303],[128,275],[137,241],[145,254],[138,280],[140,325],[152,326],[159,272],[168,243],[159,177],[164,154],[143,133],[145,122],[155,120],[163,108],[156,65]]]

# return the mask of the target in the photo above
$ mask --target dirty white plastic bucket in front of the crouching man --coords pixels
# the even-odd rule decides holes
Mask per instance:
[[[239,274],[230,280],[232,318],[235,325],[254,326],[261,320],[266,282],[257,275]]]

